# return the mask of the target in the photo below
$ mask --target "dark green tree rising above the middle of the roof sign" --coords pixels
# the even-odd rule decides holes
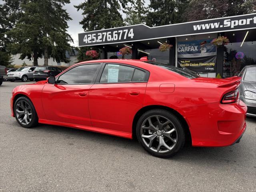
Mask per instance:
[[[150,0],[146,25],[161,26],[183,22],[180,17],[188,0]]]

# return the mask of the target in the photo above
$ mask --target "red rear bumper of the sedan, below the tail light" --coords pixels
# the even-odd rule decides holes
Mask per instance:
[[[192,108],[182,108],[189,124],[192,146],[230,146],[242,136],[246,129],[244,102],[234,104],[212,103]]]

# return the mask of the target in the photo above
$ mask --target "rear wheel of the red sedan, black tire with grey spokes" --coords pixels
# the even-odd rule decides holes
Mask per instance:
[[[150,127],[149,121],[147,120],[149,118],[153,125],[154,125],[154,122],[153,122],[154,118],[156,118],[155,124],[158,124],[157,120],[160,119],[160,123],[162,124],[161,126],[163,128],[160,129],[160,124],[159,124],[159,125],[154,125],[154,128],[159,127],[159,130],[157,129],[156,132],[154,132],[152,130],[147,130],[148,129],[147,126]],[[152,118],[153,118],[153,120],[152,120]],[[168,123],[168,122],[170,122],[170,123],[168,123],[167,125],[164,125],[164,121],[161,122],[161,120],[166,120],[165,123]],[[148,123],[147,126],[146,126],[145,122]],[[142,128],[142,124],[145,124],[144,127],[146,127],[146,129]],[[161,133],[161,130],[163,133]],[[174,131],[171,132],[172,130],[174,130]],[[152,133],[150,133],[149,131]],[[171,132],[171,133],[169,134],[169,132]],[[144,138],[142,138],[142,134],[143,134]],[[164,134],[165,135],[168,134],[168,136],[165,136]],[[169,139],[169,137],[173,136],[172,134],[175,137],[175,138],[173,138],[173,140],[175,142],[172,142],[171,138]],[[154,138],[151,137],[151,135],[152,136],[154,135]],[[149,152],[153,156],[160,157],[160,158],[169,158],[169,157],[173,156],[179,150],[182,149],[182,147],[184,146],[185,141],[186,141],[184,128],[182,127],[182,122],[174,114],[170,113],[167,110],[162,110],[162,109],[149,110],[149,111],[145,112],[139,118],[137,126],[136,126],[136,136],[137,136],[140,144],[143,146],[143,148],[147,152]],[[153,138],[152,143],[150,142],[150,140],[148,138],[145,138],[145,136],[150,136],[151,138]],[[167,144],[169,142],[170,146],[167,144],[169,146],[169,149],[160,145],[160,140],[161,141],[164,140],[164,144]],[[145,143],[147,141],[148,141],[148,145]],[[151,143],[151,147],[149,147],[149,145],[150,145],[149,143]],[[158,143],[158,145],[157,145],[157,143]],[[158,147],[160,146],[159,152],[158,152],[158,147],[154,148],[154,145],[158,146]],[[165,150],[167,150],[167,151],[165,152]]]

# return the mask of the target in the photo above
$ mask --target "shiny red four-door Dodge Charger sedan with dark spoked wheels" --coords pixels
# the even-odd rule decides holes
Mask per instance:
[[[240,77],[203,78],[148,60],[95,60],[12,91],[12,116],[38,123],[137,137],[150,154],[170,157],[185,144],[229,146],[246,129]]]

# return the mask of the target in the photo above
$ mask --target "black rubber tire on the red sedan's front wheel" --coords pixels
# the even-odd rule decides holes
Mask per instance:
[[[25,105],[26,104],[28,104],[28,105],[26,105],[27,107],[30,107],[30,109],[31,110],[29,110],[28,108],[28,110],[27,110],[27,112],[28,113],[31,113],[31,120],[30,120],[30,122],[28,123],[28,124],[23,124],[22,122],[20,122],[20,120],[22,119],[22,118],[24,118],[24,116],[21,116],[20,117],[20,120],[18,119],[18,112],[16,111],[17,109],[18,110],[22,110],[22,108],[18,105],[18,104],[20,104],[20,102],[23,102],[23,103],[25,103]],[[23,105],[23,106],[25,106],[25,105]],[[36,113],[36,110],[35,110],[35,108],[34,108],[34,105],[32,104],[32,102],[28,99],[28,98],[26,98],[26,97],[19,97],[17,100],[16,100],[16,102],[14,103],[14,116],[15,116],[15,118],[16,118],[16,120],[17,120],[17,122],[22,126],[22,127],[24,127],[24,128],[32,128],[32,127],[34,127],[34,126],[37,126],[38,125],[38,116],[37,116],[37,113]],[[25,112],[25,109],[24,109],[24,112]],[[25,113],[26,114],[26,113]],[[24,115],[25,115],[24,114]],[[26,118],[27,119],[27,118]],[[27,119],[27,121],[28,121],[28,119]],[[26,122],[24,122],[24,123],[26,123]]]

